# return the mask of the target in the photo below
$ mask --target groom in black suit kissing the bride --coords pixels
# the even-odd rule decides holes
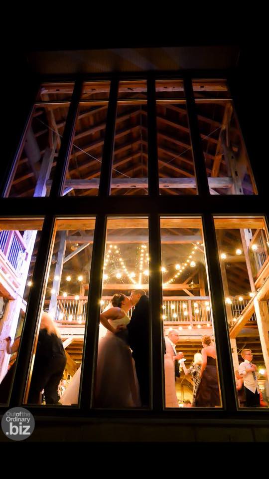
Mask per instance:
[[[127,325],[129,344],[133,350],[135,370],[140,388],[141,404],[149,405],[149,300],[143,289],[135,289],[131,293],[131,302],[135,306],[131,321]]]

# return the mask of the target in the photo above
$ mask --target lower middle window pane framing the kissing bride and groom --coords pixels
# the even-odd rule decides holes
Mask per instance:
[[[108,220],[94,402],[98,408],[148,406],[147,251],[146,219]]]

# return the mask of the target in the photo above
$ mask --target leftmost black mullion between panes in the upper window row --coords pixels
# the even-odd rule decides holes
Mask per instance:
[[[71,98],[70,107],[67,114],[64,133],[59,150],[55,172],[52,180],[50,198],[57,198],[61,196],[64,189],[66,171],[69,163],[69,155],[73,144],[73,136],[75,133],[76,119],[79,109],[79,100],[81,98],[83,82],[79,78],[75,82],[73,95]]]

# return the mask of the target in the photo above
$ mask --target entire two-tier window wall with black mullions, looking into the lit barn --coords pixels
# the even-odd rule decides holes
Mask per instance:
[[[38,239],[10,405],[241,413],[253,410],[238,399],[247,387],[240,354],[251,350],[265,408],[267,219],[227,82],[44,83],[29,111],[1,200],[18,225],[31,213],[27,228]],[[1,223],[3,254],[9,227]],[[12,225],[22,244],[27,228]],[[126,336],[141,298],[142,360]],[[0,307],[6,315],[4,300]],[[44,330],[61,363],[51,364],[52,393],[39,381]],[[118,403],[108,400],[115,391]]]

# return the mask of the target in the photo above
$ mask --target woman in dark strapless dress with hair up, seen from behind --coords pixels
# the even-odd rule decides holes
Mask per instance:
[[[202,336],[202,346],[201,382],[197,390],[195,406],[214,408],[220,406],[216,350],[210,336]]]

